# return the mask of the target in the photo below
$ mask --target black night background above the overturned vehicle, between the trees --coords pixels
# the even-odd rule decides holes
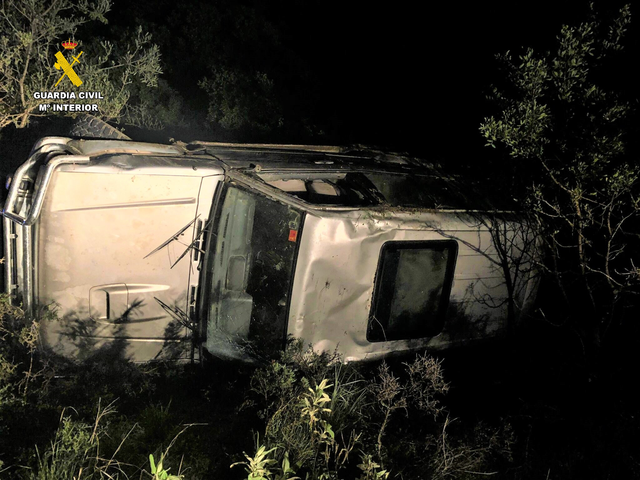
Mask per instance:
[[[604,18],[620,6],[595,8]],[[485,116],[497,113],[485,98],[504,76],[495,54],[519,54],[527,46],[553,51],[562,24],[587,20],[588,3],[115,0],[107,17],[108,25],[93,22],[77,37],[100,36],[118,45],[141,24],[161,47],[161,77],[188,108],[188,127],[125,126],[134,140],[364,143],[456,164],[499,153],[483,148],[477,131]],[[632,21],[625,51],[604,72],[605,86],[610,82],[630,99],[637,97],[639,31]],[[286,127],[230,131],[209,122],[207,95],[197,83],[220,63],[268,72]],[[300,118],[322,134],[296,128]],[[4,129],[0,170],[15,170],[37,138],[63,134],[68,122]]]

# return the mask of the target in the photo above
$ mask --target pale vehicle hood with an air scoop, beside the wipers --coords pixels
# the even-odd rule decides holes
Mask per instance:
[[[121,351],[109,355],[129,360],[187,355],[192,252],[172,265],[194,237],[202,184],[193,175],[54,172],[33,239],[36,304],[56,305],[59,317],[43,324],[45,345],[79,360],[114,345]]]

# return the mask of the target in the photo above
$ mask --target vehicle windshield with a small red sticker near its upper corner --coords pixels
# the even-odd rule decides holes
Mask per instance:
[[[282,348],[301,212],[228,186],[211,246],[207,350],[230,358]]]

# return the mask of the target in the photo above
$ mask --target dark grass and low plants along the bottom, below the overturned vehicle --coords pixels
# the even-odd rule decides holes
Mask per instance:
[[[257,369],[63,370],[34,355],[19,310],[0,308],[1,479],[640,476],[633,364],[593,376],[555,330],[364,367],[293,342]]]

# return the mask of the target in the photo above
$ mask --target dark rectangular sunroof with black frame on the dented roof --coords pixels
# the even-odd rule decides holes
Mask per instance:
[[[455,240],[385,243],[378,262],[367,340],[438,335],[449,306],[457,256]]]

